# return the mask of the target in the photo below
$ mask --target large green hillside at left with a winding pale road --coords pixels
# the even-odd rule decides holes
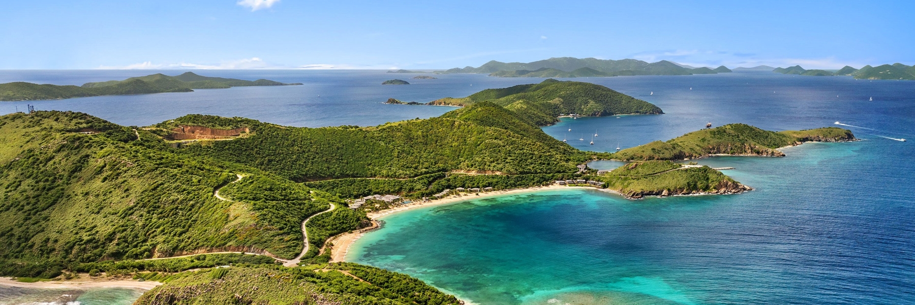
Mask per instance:
[[[104,132],[70,132],[87,126]],[[136,140],[132,130],[86,114],[8,114],[0,135],[5,274],[53,276],[70,262],[224,246],[291,257],[301,249],[293,228],[332,200],[311,201],[307,188],[257,169],[183,155],[145,131]],[[213,190],[239,170],[252,176],[224,192],[242,202],[216,199]],[[242,196],[246,189],[274,197]],[[15,262],[32,265],[7,265]]]

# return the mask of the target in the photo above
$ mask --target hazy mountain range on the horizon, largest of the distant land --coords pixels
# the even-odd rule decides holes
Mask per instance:
[[[716,74],[730,72],[725,66],[716,69],[692,68],[673,61],[661,60],[647,62],[642,60],[597,60],[594,58],[576,59],[571,57],[552,58],[533,62],[501,62],[491,60],[479,66],[454,68],[447,73],[489,73],[497,77],[593,77],[620,75],[692,75]]]

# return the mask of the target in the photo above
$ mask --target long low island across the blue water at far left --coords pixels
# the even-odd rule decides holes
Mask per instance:
[[[36,84],[31,82],[0,83],[0,101],[59,100],[73,97],[145,93],[188,93],[193,89],[224,89],[240,86],[285,86],[270,80],[243,81],[221,77],[200,76],[184,72],[177,76],[162,73],[132,77],[124,81],[87,82],[82,86]]]

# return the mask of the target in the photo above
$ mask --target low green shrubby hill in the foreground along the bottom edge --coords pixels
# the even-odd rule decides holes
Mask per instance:
[[[219,272],[217,273],[217,270]],[[225,271],[222,271],[225,270]],[[229,267],[188,272],[135,304],[458,304],[422,281],[375,267]]]

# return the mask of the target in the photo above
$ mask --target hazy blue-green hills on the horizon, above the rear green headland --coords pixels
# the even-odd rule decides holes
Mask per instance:
[[[594,58],[576,59],[571,57],[552,58],[549,60],[537,60],[533,62],[500,62],[491,60],[479,68],[465,67],[454,68],[447,71],[436,71],[436,73],[506,73],[512,71],[539,71],[542,69],[553,69],[556,71],[576,71],[582,68],[607,73],[607,75],[595,76],[614,76],[614,75],[690,75],[692,69],[681,67],[676,63],[667,60],[658,62],[647,62],[642,60],[597,60]],[[552,71],[554,73],[558,73]],[[519,74],[519,73],[515,73]],[[535,76],[535,77],[572,77],[572,76]],[[502,75],[493,75],[502,76]],[[512,76],[508,76],[512,77]],[[517,77],[517,76],[513,76]],[[580,77],[580,76],[579,76]]]

